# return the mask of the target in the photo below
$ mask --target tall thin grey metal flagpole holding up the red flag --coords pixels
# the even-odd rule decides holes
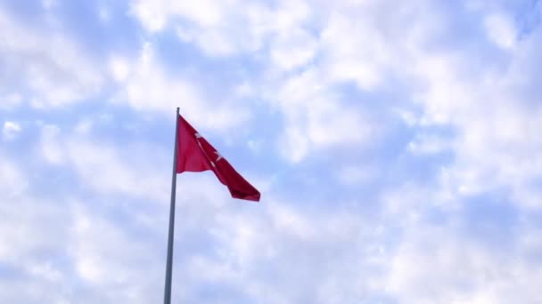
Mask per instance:
[[[175,228],[175,195],[177,193],[177,145],[179,132],[179,108],[177,108],[177,123],[175,127],[175,148],[173,154],[173,176],[171,178],[171,204],[169,206],[168,231],[168,260],[166,261],[166,286],[164,289],[164,304],[171,304],[171,276],[173,266],[173,234]]]

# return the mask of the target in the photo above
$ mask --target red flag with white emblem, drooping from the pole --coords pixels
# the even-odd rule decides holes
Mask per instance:
[[[211,170],[234,198],[259,202],[259,191],[243,179],[183,116],[178,118],[177,173]]]

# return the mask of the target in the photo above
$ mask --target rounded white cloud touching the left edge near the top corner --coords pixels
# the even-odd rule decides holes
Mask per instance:
[[[60,107],[101,89],[99,65],[69,37],[53,29],[31,28],[1,8],[0,28],[0,85],[15,94],[8,98],[8,106],[29,100],[35,108]]]

